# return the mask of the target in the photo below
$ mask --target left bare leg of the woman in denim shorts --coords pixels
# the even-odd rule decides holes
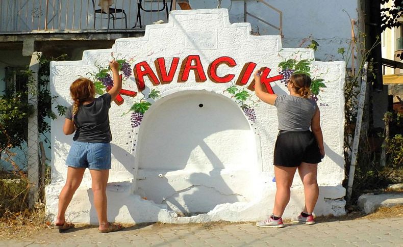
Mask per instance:
[[[57,214],[55,225],[63,225],[66,221],[64,214],[68,204],[73,198],[75,190],[80,186],[81,180],[83,180],[85,168],[67,168],[67,179],[62,191],[59,195],[59,211]]]

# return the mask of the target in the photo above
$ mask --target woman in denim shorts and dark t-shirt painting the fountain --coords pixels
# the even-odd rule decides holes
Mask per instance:
[[[90,170],[94,207],[98,215],[99,232],[113,232],[122,229],[107,219],[106,186],[111,169],[112,133],[109,127],[109,108],[122,88],[119,64],[109,63],[113,73],[113,87],[108,93],[95,98],[95,86],[86,78],[75,80],[70,86],[74,100],[66,112],[64,134],[72,134],[73,143],[67,156],[67,179],[59,196],[59,211],[55,229],[66,230],[74,225],[67,223],[65,212],[75,190],[80,186],[86,168]]]

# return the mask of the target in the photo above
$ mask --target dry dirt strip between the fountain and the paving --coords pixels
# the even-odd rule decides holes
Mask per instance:
[[[350,208],[349,213],[342,216],[319,216],[315,218],[317,223],[324,222],[335,222],[335,221],[350,221],[356,219],[379,219],[379,218],[391,218],[391,217],[403,217],[403,205],[395,206],[391,208],[380,208],[371,214],[364,214],[357,210],[357,208]],[[288,221],[286,220],[285,223]],[[202,225],[206,229],[212,229],[220,225],[229,224],[239,224],[230,222],[213,222]],[[245,222],[245,224],[250,224]],[[163,223],[148,223],[148,224],[137,224],[137,225],[126,225],[129,228],[141,228],[144,226],[153,225],[153,228],[159,227],[169,227],[170,224]],[[188,227],[192,227],[196,224],[188,224]],[[81,225],[81,228],[94,228],[96,226],[86,226]],[[44,221],[44,214],[42,210],[30,214],[28,211],[22,213],[5,213],[5,215],[0,219],[0,239],[30,239],[44,229],[51,228],[51,223]]]

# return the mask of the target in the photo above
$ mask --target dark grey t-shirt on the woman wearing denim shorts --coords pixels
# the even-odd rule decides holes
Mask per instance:
[[[85,143],[109,143],[112,141],[112,133],[109,127],[109,108],[111,107],[111,95],[106,93],[96,98],[93,102],[79,106],[79,111],[74,115],[74,124],[77,127],[73,137],[74,141]],[[72,120],[73,106],[70,105],[66,112],[66,118]]]

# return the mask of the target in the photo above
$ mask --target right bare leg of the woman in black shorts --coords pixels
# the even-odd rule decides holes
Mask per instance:
[[[298,167],[298,173],[304,184],[304,211],[308,214],[312,214],[319,196],[319,186],[316,180],[318,165],[302,162]]]

